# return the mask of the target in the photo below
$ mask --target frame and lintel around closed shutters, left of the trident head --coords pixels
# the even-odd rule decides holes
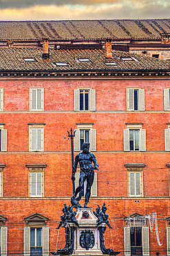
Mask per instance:
[[[29,122],[28,123],[29,125],[29,152],[44,152],[44,125],[45,123],[44,122]],[[32,130],[36,130],[36,149],[32,149]],[[38,139],[39,139],[39,136],[38,136],[38,130],[41,130],[41,149],[39,150],[38,148]]]

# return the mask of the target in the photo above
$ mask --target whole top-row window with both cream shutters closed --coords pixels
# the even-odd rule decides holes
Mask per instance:
[[[43,111],[43,88],[30,88],[30,111]]]

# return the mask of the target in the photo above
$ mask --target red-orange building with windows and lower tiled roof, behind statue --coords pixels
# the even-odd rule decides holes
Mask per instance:
[[[41,56],[0,53],[1,255],[63,248],[56,226],[72,196],[71,127],[74,154],[89,142],[99,164],[89,206],[107,205],[106,246],[169,254],[169,64],[103,50]]]

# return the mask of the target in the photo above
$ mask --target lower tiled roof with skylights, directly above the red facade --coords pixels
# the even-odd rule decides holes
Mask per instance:
[[[0,48],[1,71],[99,71],[99,70],[169,70],[170,62],[153,57],[112,51],[107,59],[103,49],[50,50],[50,58],[42,58],[42,48]],[[32,57],[35,61],[25,61]],[[89,61],[80,59],[89,59]],[[127,58],[127,59],[126,59]]]

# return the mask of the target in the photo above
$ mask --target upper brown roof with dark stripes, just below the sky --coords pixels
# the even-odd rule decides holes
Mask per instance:
[[[160,33],[170,33],[170,19],[0,21],[0,40],[160,39]]]

